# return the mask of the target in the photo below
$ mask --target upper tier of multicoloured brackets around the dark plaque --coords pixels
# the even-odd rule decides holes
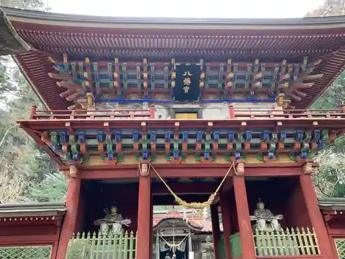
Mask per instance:
[[[200,59],[197,64],[177,64],[175,59],[170,63],[148,63],[147,59],[120,62],[118,58],[112,62],[91,61],[89,57],[83,61],[69,61],[67,54],[63,54],[61,61],[52,58],[50,61],[57,73],[50,73],[49,76],[59,80],[58,86],[66,89],[60,95],[73,102],[78,102],[86,93],[95,95],[96,102],[106,102],[106,98],[124,102],[124,97],[130,99],[128,93],[137,95],[137,102],[168,99],[193,102],[200,100],[199,97],[210,100],[210,94],[213,94],[211,99],[216,96],[218,99],[229,99],[233,95],[239,95],[239,99],[260,99],[262,93],[267,99],[283,94],[279,95],[283,100],[286,96],[299,102],[306,96],[301,90],[311,88],[313,81],[323,76],[321,73],[311,74],[321,60],[308,60],[308,57],[304,57],[302,63],[288,63],[285,59],[280,63],[260,62],[259,59],[253,63],[231,59],[224,63],[205,63]],[[177,86],[179,81],[184,80],[184,70],[188,69],[193,69],[196,78],[193,80],[197,81],[192,85],[197,86],[187,86],[190,88],[187,92],[181,88],[182,95],[177,97]],[[186,99],[186,95],[190,94],[195,97]]]

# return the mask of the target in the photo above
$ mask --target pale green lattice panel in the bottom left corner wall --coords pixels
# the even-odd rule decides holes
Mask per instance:
[[[52,246],[0,247],[0,259],[50,259]]]

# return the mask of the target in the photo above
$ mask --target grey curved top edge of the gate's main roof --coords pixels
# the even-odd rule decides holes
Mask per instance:
[[[345,28],[345,16],[307,17],[290,19],[217,19],[217,18],[144,18],[106,17],[90,15],[66,15],[54,12],[40,12],[3,8],[10,21],[46,24],[51,26],[84,26],[103,28],[171,28],[224,30],[306,30]]]

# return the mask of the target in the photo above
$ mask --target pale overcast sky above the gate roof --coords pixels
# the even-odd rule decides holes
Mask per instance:
[[[112,17],[295,18],[323,0],[50,0],[52,12]]]

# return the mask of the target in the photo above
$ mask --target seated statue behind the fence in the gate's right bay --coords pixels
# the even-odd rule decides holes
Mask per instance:
[[[273,215],[269,209],[265,209],[265,204],[262,200],[257,202],[257,209],[254,211],[254,215],[250,216],[250,220],[255,220],[256,224],[253,225],[253,229],[259,231],[280,231],[278,220],[282,220],[283,215]]]

